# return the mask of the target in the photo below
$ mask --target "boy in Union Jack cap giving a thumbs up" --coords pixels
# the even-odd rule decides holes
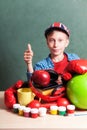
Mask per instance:
[[[59,75],[62,75],[69,61],[79,59],[76,54],[65,52],[65,48],[69,45],[69,37],[70,32],[68,28],[60,22],[54,22],[50,27],[48,27],[45,30],[45,38],[50,54],[42,61],[36,63],[34,68],[32,66],[33,51],[31,45],[28,44],[28,49],[24,52],[24,61],[27,64],[28,80],[35,70],[40,69],[53,69]]]

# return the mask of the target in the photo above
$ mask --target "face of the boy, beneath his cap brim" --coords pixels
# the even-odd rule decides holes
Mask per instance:
[[[47,45],[51,55],[58,56],[64,53],[69,44],[68,36],[60,31],[53,31],[47,36]]]

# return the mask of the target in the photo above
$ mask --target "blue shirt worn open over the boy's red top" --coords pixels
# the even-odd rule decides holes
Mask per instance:
[[[68,61],[80,59],[78,55],[74,53],[65,53],[68,57]],[[44,58],[43,60],[37,62],[34,65],[34,70],[46,70],[46,69],[54,69],[54,64],[50,58],[50,55],[48,57]],[[27,72],[27,78],[28,80],[31,78],[32,73]]]

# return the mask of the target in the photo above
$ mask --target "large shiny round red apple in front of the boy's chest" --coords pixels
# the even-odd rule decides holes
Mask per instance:
[[[50,74],[45,70],[36,70],[32,75],[32,80],[39,86],[47,86],[50,83]]]

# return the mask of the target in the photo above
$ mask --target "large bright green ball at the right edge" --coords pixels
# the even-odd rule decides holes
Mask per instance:
[[[87,109],[87,73],[74,76],[67,83],[68,99],[80,109]]]

